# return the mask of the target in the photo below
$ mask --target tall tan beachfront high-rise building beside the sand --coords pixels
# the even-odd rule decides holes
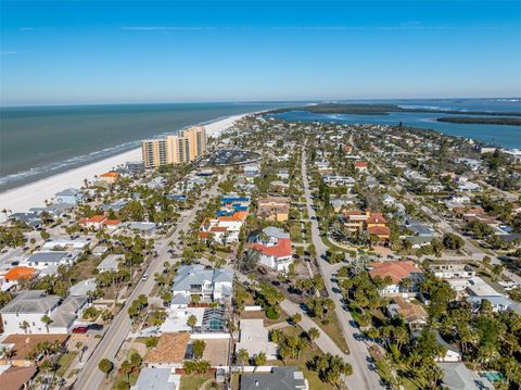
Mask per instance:
[[[206,129],[195,126],[177,136],[143,140],[141,149],[145,168],[188,163],[206,153]]]

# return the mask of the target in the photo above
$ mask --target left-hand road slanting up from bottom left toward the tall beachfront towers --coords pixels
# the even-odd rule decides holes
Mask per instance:
[[[212,197],[215,197],[218,193],[218,184],[219,180],[217,180],[217,183],[215,183],[215,185],[209,190],[204,191],[201,194],[200,200],[194,204],[193,209],[190,210],[188,214],[181,217],[175,230],[169,237],[157,240],[156,244],[158,247],[156,247],[156,251],[158,255],[157,257],[154,257],[152,260],[145,271],[145,273],[151,275],[151,277],[149,277],[147,280],[139,280],[139,282],[136,285],[136,288],[126,300],[124,307],[115,316],[114,320],[106,330],[105,336],[100,341],[94,352],[90,355],[90,358],[81,368],[78,378],[74,385],[75,390],[99,389],[104,379],[103,373],[100,372],[100,369],[98,368],[99,362],[102,358],[109,358],[110,361],[114,362],[117,351],[119,350],[123,342],[130,332],[131,320],[127,314],[128,307],[138,298],[138,295],[150,295],[155,285],[153,275],[155,273],[162,273],[164,269],[163,263],[170,260],[170,254],[168,253],[168,243],[170,241],[174,241],[175,243],[179,242],[179,232],[181,230],[189,230],[189,226],[193,222],[195,217],[195,212],[198,211],[201,203]]]

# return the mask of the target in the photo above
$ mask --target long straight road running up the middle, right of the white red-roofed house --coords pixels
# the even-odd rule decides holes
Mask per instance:
[[[320,237],[316,213],[312,207],[312,191],[307,178],[305,148],[302,153],[302,183],[304,186],[304,197],[306,198],[307,213],[312,219],[312,241],[316,248],[318,267],[329,297],[334,301],[335,313],[344,338],[350,347],[351,354],[345,356],[345,360],[353,366],[353,375],[346,377],[345,383],[353,390],[383,389],[380,383],[380,377],[370,367],[370,356],[367,350],[367,344],[361,340],[355,339],[355,335],[359,332],[358,327],[355,325],[351,313],[344,309],[342,297],[333,291],[333,282],[331,281],[331,278],[336,272],[338,266],[333,266],[325,260],[328,247],[323,243]]]

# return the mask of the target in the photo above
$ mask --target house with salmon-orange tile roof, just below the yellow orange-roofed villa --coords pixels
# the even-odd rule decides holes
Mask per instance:
[[[383,295],[414,297],[418,292],[418,285],[424,280],[421,269],[412,261],[389,261],[370,266],[369,276],[372,279],[390,279],[390,284],[381,291]]]

